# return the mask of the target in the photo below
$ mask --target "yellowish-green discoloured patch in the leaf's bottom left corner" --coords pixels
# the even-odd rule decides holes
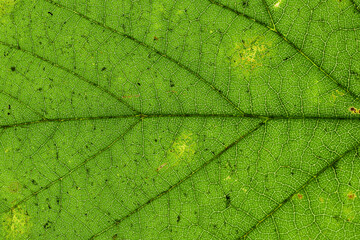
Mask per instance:
[[[4,239],[28,239],[31,228],[30,216],[21,206],[5,213],[1,222],[2,237]]]

